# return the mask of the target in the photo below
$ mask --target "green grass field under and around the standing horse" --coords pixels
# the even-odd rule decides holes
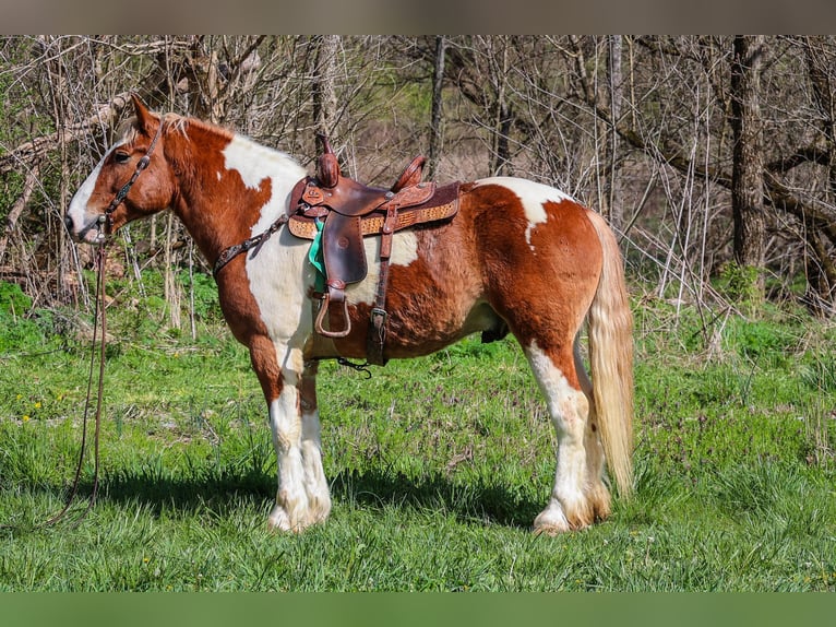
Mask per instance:
[[[275,459],[244,350],[214,320],[143,336],[116,309],[98,502],[40,528],[74,470],[87,348],[7,314],[0,590],[836,591],[834,328],[729,319],[707,359],[694,312],[636,312],[636,494],[553,539],[530,524],[554,436],[513,340],[370,380],[324,364],[334,508],[290,536],[266,532]]]

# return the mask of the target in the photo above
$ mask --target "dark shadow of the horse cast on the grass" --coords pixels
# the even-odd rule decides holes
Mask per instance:
[[[211,511],[227,516],[247,502],[272,504],[275,475],[255,470],[210,476],[148,476],[146,473],[119,473],[106,477],[98,493],[99,502],[140,505],[154,516],[175,509],[200,516]],[[92,492],[82,485],[81,493]],[[338,472],[331,481],[334,507],[386,509],[404,513],[430,509],[453,516],[464,523],[528,528],[538,507],[525,495],[506,486],[477,481],[452,481],[445,473],[411,478],[393,471],[365,470]],[[267,509],[270,505],[265,505]]]

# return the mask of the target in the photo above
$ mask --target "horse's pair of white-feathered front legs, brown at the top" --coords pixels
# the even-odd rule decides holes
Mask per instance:
[[[311,405],[313,375],[303,375],[301,351],[276,346],[267,338],[251,342],[250,358],[267,402],[276,451],[278,486],[268,525],[299,532],[331,509],[315,397]]]

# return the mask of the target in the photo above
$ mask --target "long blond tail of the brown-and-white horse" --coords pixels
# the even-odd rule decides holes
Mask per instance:
[[[618,241],[589,211],[604,249],[604,269],[587,316],[593,399],[604,453],[619,495],[633,489],[633,317]]]

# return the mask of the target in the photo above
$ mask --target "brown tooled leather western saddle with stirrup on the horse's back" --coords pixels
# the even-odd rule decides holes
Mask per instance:
[[[345,289],[368,273],[363,237],[381,237],[380,277],[367,339],[370,364],[385,363],[392,235],[417,224],[451,220],[458,211],[459,184],[437,187],[434,182],[421,182],[425,162],[423,156],[414,158],[390,189],[367,187],[342,175],[337,157],[324,139],[317,175],[300,180],[290,194],[290,233],[314,239],[321,230],[325,289],[317,295],[322,303],[314,330],[325,338],[345,338],[351,332]]]

